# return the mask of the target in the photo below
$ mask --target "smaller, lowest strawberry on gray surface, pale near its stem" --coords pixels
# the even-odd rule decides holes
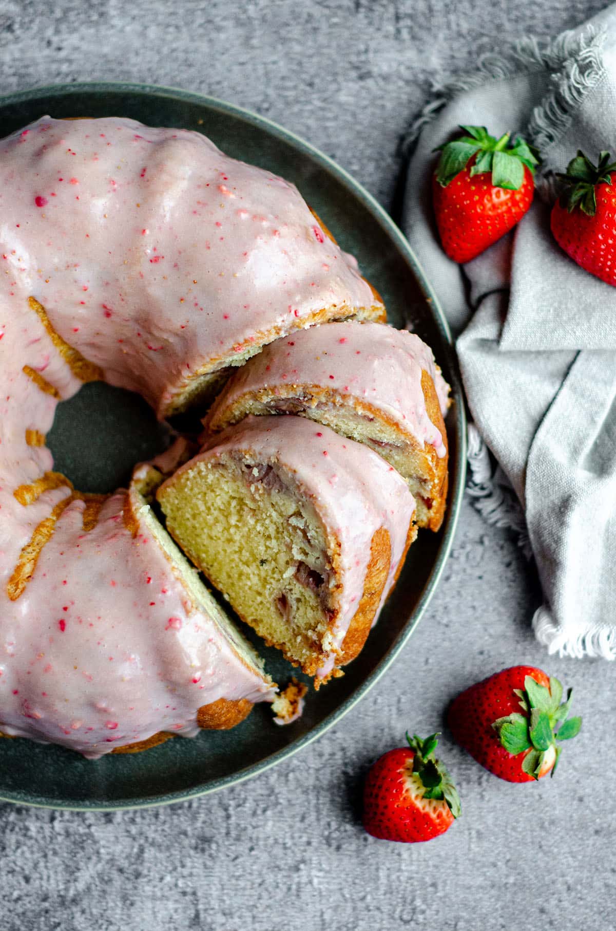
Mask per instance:
[[[460,799],[441,762],[438,735],[407,734],[408,747],[389,750],[374,763],[364,789],[364,828],[383,841],[430,841],[460,816]]]

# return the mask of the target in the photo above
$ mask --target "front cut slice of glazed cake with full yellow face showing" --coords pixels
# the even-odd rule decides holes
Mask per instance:
[[[248,417],[156,497],[234,611],[317,684],[361,650],[416,533],[395,468],[303,417]]]

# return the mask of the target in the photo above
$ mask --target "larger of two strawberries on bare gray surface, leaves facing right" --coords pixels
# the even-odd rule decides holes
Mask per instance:
[[[541,669],[514,666],[471,685],[449,706],[451,733],[477,762],[507,782],[531,782],[552,770],[560,747],[574,737],[582,718],[569,718],[563,687]],[[521,710],[520,710],[521,709]],[[559,730],[555,727],[558,722]]]

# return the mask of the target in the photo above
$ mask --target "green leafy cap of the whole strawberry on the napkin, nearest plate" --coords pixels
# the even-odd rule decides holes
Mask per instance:
[[[512,143],[508,132],[496,139],[489,135],[485,126],[460,128],[462,136],[435,149],[435,152],[441,154],[436,166],[436,181],[441,187],[447,187],[474,157],[471,177],[491,173],[494,187],[508,191],[520,189],[524,182],[525,167],[534,174],[535,168],[541,164],[537,149],[521,136],[516,136],[516,141]]]

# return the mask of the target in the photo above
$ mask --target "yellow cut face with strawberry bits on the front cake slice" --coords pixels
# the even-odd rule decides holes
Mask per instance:
[[[248,453],[197,462],[161,490],[167,528],[240,617],[313,675],[339,596],[310,498]]]

